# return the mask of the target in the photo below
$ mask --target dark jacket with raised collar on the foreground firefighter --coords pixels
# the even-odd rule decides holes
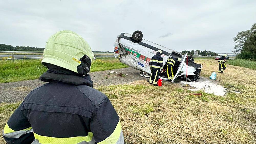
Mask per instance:
[[[124,143],[118,114],[89,75],[54,69],[40,80],[48,83],[31,91],[5,125],[7,143]]]

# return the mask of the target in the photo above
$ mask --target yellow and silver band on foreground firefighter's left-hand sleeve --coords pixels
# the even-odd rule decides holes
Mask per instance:
[[[3,136],[5,136],[7,138],[19,138],[20,136],[27,134],[29,132],[33,132],[32,127],[22,129],[19,131],[15,131],[15,130],[12,130],[6,123],[6,125],[4,127],[4,131],[3,131]]]

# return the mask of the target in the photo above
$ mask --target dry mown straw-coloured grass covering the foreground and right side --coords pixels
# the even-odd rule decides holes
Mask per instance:
[[[203,65],[202,76],[218,71],[216,60],[196,62]],[[255,70],[227,65],[224,74],[217,74],[217,81],[227,88],[225,96],[191,92],[168,82],[163,87],[135,81],[97,89],[110,98],[120,116],[126,143],[256,143],[254,74]],[[0,104],[1,130],[18,105]]]

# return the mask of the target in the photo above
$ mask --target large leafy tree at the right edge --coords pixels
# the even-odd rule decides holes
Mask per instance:
[[[256,23],[251,29],[238,32],[234,37],[234,53],[237,53],[237,58],[251,59],[256,61]]]

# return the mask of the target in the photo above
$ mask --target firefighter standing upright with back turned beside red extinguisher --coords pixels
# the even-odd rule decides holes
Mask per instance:
[[[152,57],[149,62],[149,67],[151,69],[149,83],[153,83],[157,86],[158,76],[161,70],[163,70],[163,58],[161,57],[162,51],[158,50],[156,55]]]

